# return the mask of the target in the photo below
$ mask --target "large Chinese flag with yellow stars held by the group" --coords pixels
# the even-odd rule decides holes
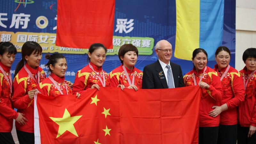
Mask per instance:
[[[35,97],[35,142],[42,144],[196,144],[198,86],[103,88]],[[39,125],[39,126],[38,126]]]

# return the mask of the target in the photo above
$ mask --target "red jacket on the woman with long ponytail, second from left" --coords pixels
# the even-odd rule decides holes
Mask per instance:
[[[37,79],[36,74],[40,72],[40,82],[45,79],[44,70],[40,67],[36,69],[31,68],[26,63],[26,67],[30,70],[32,75]],[[16,129],[23,132],[34,132],[34,99],[30,100],[28,97],[28,91],[37,88],[37,83],[28,75],[25,68],[21,68],[18,74],[14,78],[13,82],[13,98],[12,103],[14,108],[18,109],[18,112],[25,114],[28,122],[26,125],[20,125],[15,123]]]

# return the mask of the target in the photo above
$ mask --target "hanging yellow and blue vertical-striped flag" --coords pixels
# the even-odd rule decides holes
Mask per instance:
[[[174,56],[191,60],[203,48],[209,60],[222,45],[224,0],[176,0],[176,43]]]

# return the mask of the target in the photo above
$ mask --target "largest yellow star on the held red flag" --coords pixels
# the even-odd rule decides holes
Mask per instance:
[[[52,121],[54,121],[56,124],[59,125],[57,138],[59,136],[61,136],[66,131],[69,131],[69,132],[71,132],[72,134],[74,134],[75,136],[78,137],[78,135],[76,133],[76,129],[75,129],[73,124],[76,123],[76,121],[80,117],[81,116],[72,116],[72,117],[70,117],[70,114],[69,114],[67,108],[65,108],[65,111],[64,111],[64,114],[63,114],[62,118],[49,117],[50,119],[52,119]]]

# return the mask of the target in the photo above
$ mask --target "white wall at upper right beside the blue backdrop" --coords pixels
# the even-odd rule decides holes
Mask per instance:
[[[236,66],[244,68],[242,60],[247,48],[256,48],[256,0],[236,0]]]

